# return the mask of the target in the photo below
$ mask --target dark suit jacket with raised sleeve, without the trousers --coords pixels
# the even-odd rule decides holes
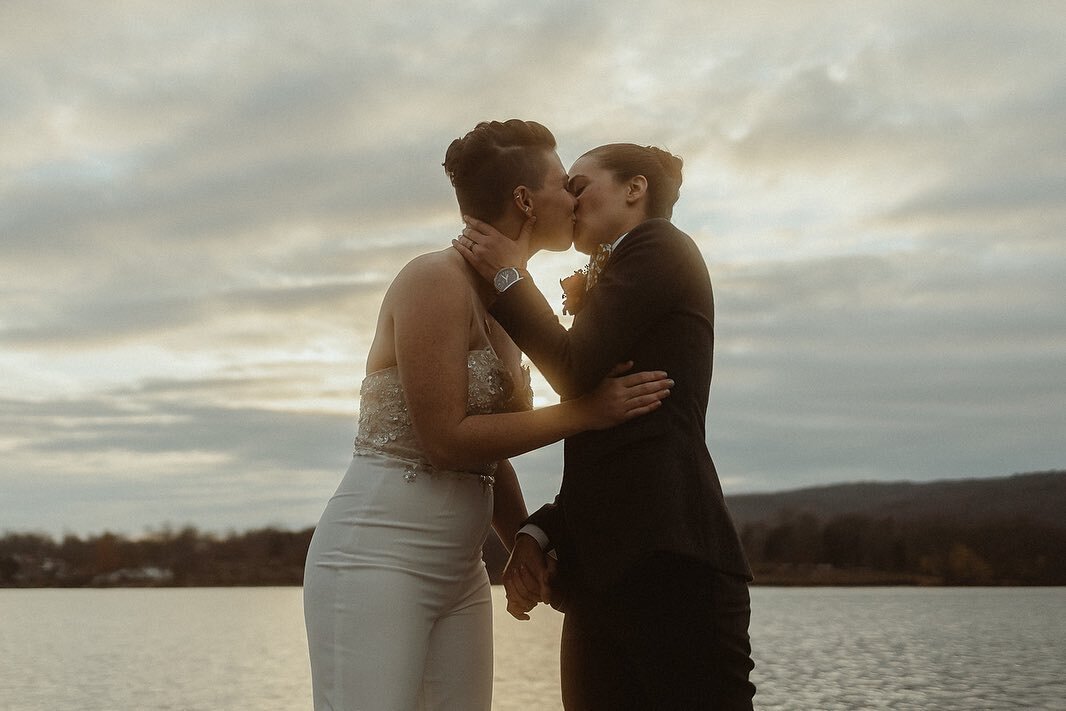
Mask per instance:
[[[605,588],[647,554],[671,552],[750,579],[707,450],[714,298],[695,242],[667,220],[633,228],[569,330],[530,279],[491,310],[564,400],[625,360],[676,382],[652,414],[566,440],[559,496],[530,517],[561,578]]]

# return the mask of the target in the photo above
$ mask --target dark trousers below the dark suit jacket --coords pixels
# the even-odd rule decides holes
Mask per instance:
[[[567,711],[752,709],[747,582],[657,554],[605,593],[576,591],[563,621]]]

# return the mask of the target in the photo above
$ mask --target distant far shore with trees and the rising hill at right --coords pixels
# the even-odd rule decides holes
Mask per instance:
[[[756,586],[1066,585],[1066,472],[728,499]],[[300,585],[313,528],[0,536],[0,587]],[[489,580],[507,551],[489,536]]]

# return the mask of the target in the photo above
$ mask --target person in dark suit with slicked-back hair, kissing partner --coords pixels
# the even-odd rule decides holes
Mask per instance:
[[[680,184],[681,160],[653,147],[610,144],[574,164],[575,246],[593,258],[569,329],[524,271],[523,237],[468,220],[453,242],[563,400],[621,361],[675,382],[647,417],[566,439],[560,492],[504,572],[514,616],[542,601],[565,612],[570,711],[750,709],[755,694],[752,572],[706,441],[714,300],[698,246],[669,222]]]

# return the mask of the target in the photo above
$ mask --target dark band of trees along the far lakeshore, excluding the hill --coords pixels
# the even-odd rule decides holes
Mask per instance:
[[[140,538],[0,537],[0,587],[300,585],[313,529],[220,536],[194,527]],[[756,584],[1064,585],[1066,528],[1025,518],[981,523],[779,512],[741,537]],[[499,581],[506,553],[486,546]]]

